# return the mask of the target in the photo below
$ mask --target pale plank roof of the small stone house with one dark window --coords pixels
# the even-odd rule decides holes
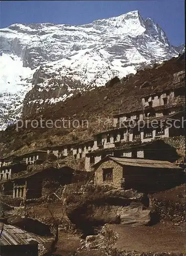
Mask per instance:
[[[129,166],[136,166],[136,167],[147,167],[147,168],[164,168],[164,169],[180,169],[177,165],[172,164],[169,161],[159,161],[159,160],[149,160],[149,159],[133,159],[133,158],[125,158],[125,157],[113,157],[113,156],[106,156],[98,163],[92,165],[95,167],[99,165],[99,163],[104,162],[105,160],[111,159],[112,161],[120,164],[120,165],[129,165]]]

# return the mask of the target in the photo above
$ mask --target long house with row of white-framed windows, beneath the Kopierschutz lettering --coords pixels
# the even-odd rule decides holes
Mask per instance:
[[[133,119],[130,119],[130,121],[133,120],[135,123],[127,122],[125,115],[124,127],[114,128],[94,135],[92,151],[102,148],[113,148],[122,143],[125,144],[132,141],[147,142],[155,138],[184,135],[184,127],[178,128],[179,125],[182,125],[182,117],[184,116],[182,111],[173,112],[169,115],[149,117],[148,119],[143,119],[142,114],[137,116],[134,113],[136,112],[133,112]],[[122,118],[124,118],[123,114]],[[174,123],[176,123],[176,126]]]

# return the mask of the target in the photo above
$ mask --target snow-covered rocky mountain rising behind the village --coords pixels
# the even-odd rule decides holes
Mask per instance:
[[[2,129],[23,106],[27,115],[183,49],[172,47],[166,33],[138,11],[81,26],[14,24],[0,30],[0,40]]]

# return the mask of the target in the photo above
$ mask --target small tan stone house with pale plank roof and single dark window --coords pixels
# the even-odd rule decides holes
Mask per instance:
[[[95,184],[144,193],[166,190],[184,182],[182,169],[168,161],[106,156],[92,167]]]

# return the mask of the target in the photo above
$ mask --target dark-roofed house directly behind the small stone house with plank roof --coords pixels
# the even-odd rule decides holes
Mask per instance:
[[[85,170],[91,171],[91,166],[107,155],[114,157],[168,160],[170,162],[174,162],[178,158],[176,149],[161,139],[143,143],[141,141],[133,141],[123,143],[123,145],[120,146],[115,145],[113,148],[102,148],[87,153],[85,158]]]

